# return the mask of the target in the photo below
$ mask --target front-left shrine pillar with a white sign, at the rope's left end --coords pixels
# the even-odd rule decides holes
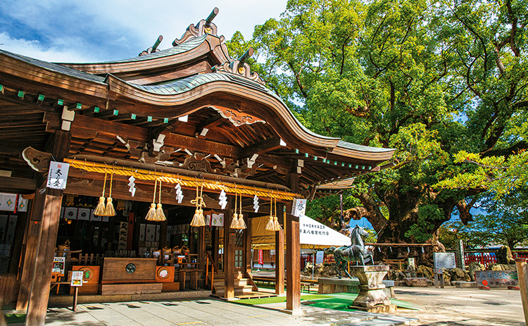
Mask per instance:
[[[52,151],[56,161],[62,161],[70,151],[71,134],[58,130],[54,135],[54,149]],[[42,206],[35,209],[42,211],[39,240],[37,242],[37,253],[35,257],[34,270],[31,287],[30,302],[27,307],[26,325],[41,326],[46,320],[46,309],[48,308],[49,286],[51,283],[51,265],[55,255],[55,244],[57,242],[58,222],[61,216],[61,205],[63,201],[63,190],[48,189],[44,184],[37,189],[37,196]]]

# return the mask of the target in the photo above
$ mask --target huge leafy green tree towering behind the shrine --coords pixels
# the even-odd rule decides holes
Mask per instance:
[[[291,0],[231,42],[256,47],[253,70],[311,130],[398,149],[356,179],[346,215],[366,217],[378,242],[420,243],[453,211],[470,221],[486,191],[439,184],[477,169],[455,154],[527,147],[527,15],[526,0]],[[326,212],[311,207],[329,224],[339,199],[322,201]]]

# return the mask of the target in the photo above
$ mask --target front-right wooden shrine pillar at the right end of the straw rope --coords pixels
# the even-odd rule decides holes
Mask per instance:
[[[289,187],[298,192],[298,174],[287,175]],[[297,311],[301,308],[301,245],[298,217],[291,215],[292,202],[286,204],[286,309]]]

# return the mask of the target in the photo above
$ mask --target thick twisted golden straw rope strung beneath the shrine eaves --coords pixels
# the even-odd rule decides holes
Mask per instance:
[[[95,173],[105,173],[106,172],[106,166],[102,163],[95,163],[95,162],[87,162],[87,161],[79,161],[71,158],[65,158],[65,163],[69,163],[71,168],[76,168],[79,170],[84,170],[87,172],[95,172]],[[275,199],[282,199],[291,201],[297,198],[297,194],[294,194],[293,192],[284,192],[277,189],[266,189],[261,187],[254,187],[253,189],[246,189],[245,187],[240,188],[237,187],[237,184],[230,183],[230,182],[218,182],[213,180],[198,180],[196,177],[187,177],[182,175],[174,175],[171,173],[165,173],[164,175],[155,175],[152,174],[152,171],[145,170],[145,169],[139,169],[139,168],[127,168],[124,166],[115,166],[114,169],[115,175],[126,175],[126,176],[132,176],[138,180],[147,180],[147,181],[158,181],[158,182],[167,182],[172,184],[181,184],[182,186],[188,187],[188,188],[194,188],[201,184],[203,184],[203,187],[210,190],[216,190],[216,191],[224,191],[228,194],[241,194],[241,195],[247,195],[247,196],[253,196],[253,195],[260,195],[262,196],[264,194],[265,197],[268,198],[275,198]]]

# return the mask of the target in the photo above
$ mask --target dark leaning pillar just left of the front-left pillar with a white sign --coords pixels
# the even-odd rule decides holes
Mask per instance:
[[[31,284],[34,273],[34,258],[37,253],[37,242],[39,240],[40,220],[44,207],[44,196],[35,194],[31,204],[29,225],[27,226],[24,258],[22,261],[22,273],[20,275],[20,287],[18,289],[18,298],[16,301],[17,311],[26,311],[27,303],[30,301]]]

